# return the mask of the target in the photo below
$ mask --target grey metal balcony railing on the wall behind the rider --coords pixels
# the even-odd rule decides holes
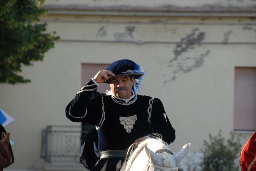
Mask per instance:
[[[90,129],[82,126],[46,126],[42,130],[41,157],[47,163],[80,163],[81,144]]]

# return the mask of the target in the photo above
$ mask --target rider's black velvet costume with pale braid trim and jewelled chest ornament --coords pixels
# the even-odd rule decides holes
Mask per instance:
[[[73,122],[87,122],[98,130],[99,151],[125,150],[134,140],[155,133],[165,142],[175,139],[175,130],[157,98],[133,93],[128,102],[113,95],[100,95],[90,80],[68,104],[66,116]],[[107,171],[115,171],[124,158],[100,159],[93,171],[100,171],[107,161]],[[118,165],[119,162],[119,165]]]

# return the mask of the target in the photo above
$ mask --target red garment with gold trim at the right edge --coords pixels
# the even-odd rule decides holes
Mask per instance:
[[[240,152],[241,171],[256,171],[256,131]]]

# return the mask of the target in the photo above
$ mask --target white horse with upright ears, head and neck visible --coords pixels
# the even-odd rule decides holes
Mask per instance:
[[[180,161],[188,155],[190,145],[184,145],[174,155],[161,139],[148,138],[131,153],[120,171],[178,171]]]

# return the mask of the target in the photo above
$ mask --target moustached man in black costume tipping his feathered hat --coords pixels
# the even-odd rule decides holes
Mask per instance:
[[[101,156],[92,171],[118,171],[125,149],[147,137],[174,141],[175,130],[162,102],[136,94],[144,75],[142,68],[131,60],[115,61],[89,80],[68,104],[68,119],[85,121],[98,130]],[[100,83],[110,84],[106,95],[97,92]]]

